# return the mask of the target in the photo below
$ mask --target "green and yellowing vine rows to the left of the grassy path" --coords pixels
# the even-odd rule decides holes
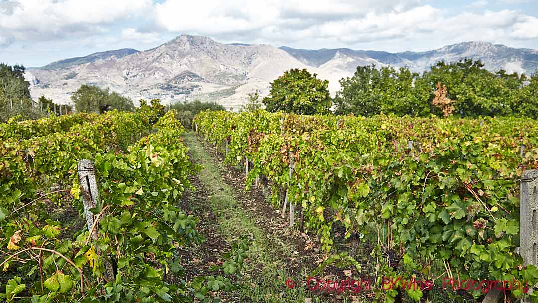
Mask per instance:
[[[187,290],[181,278],[177,248],[202,237],[195,218],[176,207],[197,168],[173,111],[152,104],[136,113],[10,121],[0,129],[0,298],[178,302],[203,299],[206,284],[213,291],[231,287],[227,277],[208,277]],[[96,223],[69,230],[53,217],[64,203],[82,213],[88,195],[76,173],[82,159],[97,171]],[[225,273],[240,267],[242,259],[235,260],[245,245],[237,245]],[[171,274],[174,284],[166,281]]]

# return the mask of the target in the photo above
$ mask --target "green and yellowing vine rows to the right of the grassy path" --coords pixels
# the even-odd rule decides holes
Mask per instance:
[[[327,253],[338,252],[333,236],[343,228],[351,242],[374,239],[371,257],[385,277],[538,281],[514,253],[520,184],[530,181],[522,172],[538,168],[532,119],[206,111],[194,124],[224,146],[226,163],[244,165],[249,186],[262,182],[274,206],[295,206],[300,228]]]

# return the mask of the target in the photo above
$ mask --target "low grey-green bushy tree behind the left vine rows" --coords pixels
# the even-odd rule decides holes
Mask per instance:
[[[109,89],[82,84],[71,96],[76,111],[100,112],[117,109],[119,111],[133,111],[134,105],[130,98],[117,93],[110,93]]]

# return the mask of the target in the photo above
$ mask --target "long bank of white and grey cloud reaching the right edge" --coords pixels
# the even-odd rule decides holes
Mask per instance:
[[[483,8],[487,4],[486,0],[478,0],[468,8]],[[155,5],[154,16],[158,28],[168,32],[275,45],[324,41],[320,48],[357,47],[383,41],[395,41],[401,46],[401,42],[412,44],[413,40],[422,45],[429,40],[449,44],[462,39],[507,43],[509,39],[533,39],[538,31],[535,18],[521,11],[463,11],[454,15],[422,1],[341,0],[305,4],[295,0],[166,0]]]

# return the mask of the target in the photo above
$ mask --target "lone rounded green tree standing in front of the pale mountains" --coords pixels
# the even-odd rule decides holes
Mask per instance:
[[[271,82],[270,95],[262,102],[267,111],[286,111],[313,115],[326,113],[331,107],[329,81],[317,79],[306,69],[290,69]]]

